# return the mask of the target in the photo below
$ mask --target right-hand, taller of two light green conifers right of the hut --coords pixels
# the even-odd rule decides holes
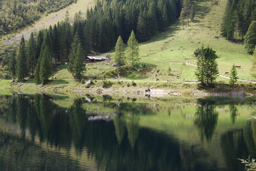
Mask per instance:
[[[128,44],[127,57],[132,59],[133,67],[134,67],[134,62],[139,61],[139,46],[138,46],[138,40],[135,38],[134,31],[131,31],[131,35],[127,44]]]

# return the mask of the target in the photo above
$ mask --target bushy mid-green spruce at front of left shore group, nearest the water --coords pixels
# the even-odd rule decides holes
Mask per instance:
[[[51,62],[51,55],[49,48],[46,46],[42,51],[41,62],[40,62],[40,70],[39,70],[39,78],[40,82],[44,85],[47,80],[50,78],[51,74],[53,74],[53,62]]]

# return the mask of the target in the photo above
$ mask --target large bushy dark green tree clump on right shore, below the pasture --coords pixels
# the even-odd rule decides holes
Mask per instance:
[[[210,47],[205,48],[202,46],[194,54],[197,54],[197,71],[195,71],[195,76],[197,76],[200,86],[213,87],[213,83],[219,73],[215,51]]]

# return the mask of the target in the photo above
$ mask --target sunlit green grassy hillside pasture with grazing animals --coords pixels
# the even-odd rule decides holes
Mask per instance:
[[[193,56],[193,52],[197,47],[204,46],[212,47],[218,56],[217,62],[219,67],[219,74],[224,75],[226,71],[230,71],[234,64],[241,65],[238,70],[240,79],[253,79],[250,75],[251,58],[252,56],[246,54],[245,47],[242,43],[232,43],[221,37],[220,28],[222,22],[223,11],[226,7],[226,0],[220,1],[219,5],[211,5],[211,1],[196,2],[195,21],[190,22],[189,26],[185,22],[182,27],[181,21],[171,25],[167,31],[160,32],[153,39],[148,42],[139,44],[139,56],[141,62],[154,64],[151,70],[145,71],[129,71],[129,74],[120,76],[127,79],[140,80],[142,82],[149,82],[155,78],[159,78],[166,82],[167,79],[177,81],[194,81],[196,80],[194,71],[195,67],[190,65],[182,65],[183,63],[196,64],[197,59]],[[217,38],[218,37],[218,38]],[[108,52],[114,56],[114,50]],[[104,54],[102,54],[104,55]],[[127,60],[129,62],[129,59]],[[94,67],[97,69],[94,69]],[[116,70],[111,65],[94,64],[87,66],[91,70],[87,70],[85,76],[92,78],[96,76],[101,78],[108,72]],[[168,68],[171,68],[171,75],[168,73]],[[154,72],[150,76],[150,73]],[[55,75],[57,78],[72,79],[72,76],[63,76],[61,73],[67,73],[67,70],[58,71]],[[63,77],[62,77],[62,76]],[[107,75],[109,76],[109,74]],[[229,82],[229,79],[218,78],[218,82]]]

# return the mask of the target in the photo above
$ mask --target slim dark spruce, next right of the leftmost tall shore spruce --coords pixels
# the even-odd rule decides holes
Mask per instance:
[[[31,32],[29,42],[27,43],[27,69],[29,71],[30,78],[33,78],[35,72],[35,66],[37,64],[37,46],[34,39],[34,34]]]

